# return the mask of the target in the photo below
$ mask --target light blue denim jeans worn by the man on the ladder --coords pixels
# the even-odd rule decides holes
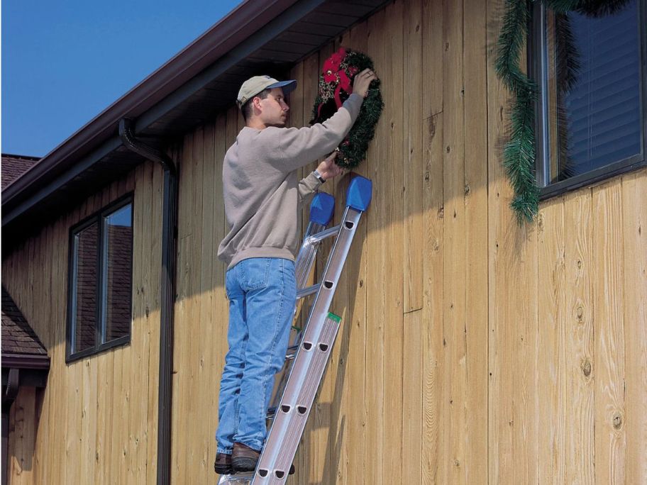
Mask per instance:
[[[297,302],[294,262],[275,257],[240,261],[226,275],[229,351],[220,382],[219,453],[234,442],[261,450],[274,377],[283,367]]]

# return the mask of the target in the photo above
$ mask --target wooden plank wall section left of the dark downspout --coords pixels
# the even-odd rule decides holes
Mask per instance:
[[[131,342],[66,364],[70,227],[133,190]],[[10,484],[155,483],[161,201],[162,170],[145,163],[3,260],[3,284],[51,359],[40,422],[33,404],[18,413],[22,389],[13,404],[10,426],[24,433],[9,440]]]

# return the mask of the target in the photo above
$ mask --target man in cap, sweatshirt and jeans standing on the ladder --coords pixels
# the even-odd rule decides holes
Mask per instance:
[[[373,79],[377,77],[369,69],[360,72],[343,106],[310,128],[284,128],[289,110],[284,96],[296,81],[256,76],[238,92],[245,127],[225,155],[223,192],[231,230],[218,251],[227,264],[229,299],[229,350],[221,377],[214,464],[219,474],[256,467],[296,304],[297,207],[326,179],[341,174],[333,156],[300,182],[297,169],[341,143]]]

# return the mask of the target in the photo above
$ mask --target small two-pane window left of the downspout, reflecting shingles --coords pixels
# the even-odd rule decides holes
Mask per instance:
[[[70,230],[67,359],[130,341],[133,289],[131,195]]]

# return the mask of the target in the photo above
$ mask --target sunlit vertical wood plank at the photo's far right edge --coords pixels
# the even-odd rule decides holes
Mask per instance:
[[[647,483],[647,172],[622,179],[628,484]]]

